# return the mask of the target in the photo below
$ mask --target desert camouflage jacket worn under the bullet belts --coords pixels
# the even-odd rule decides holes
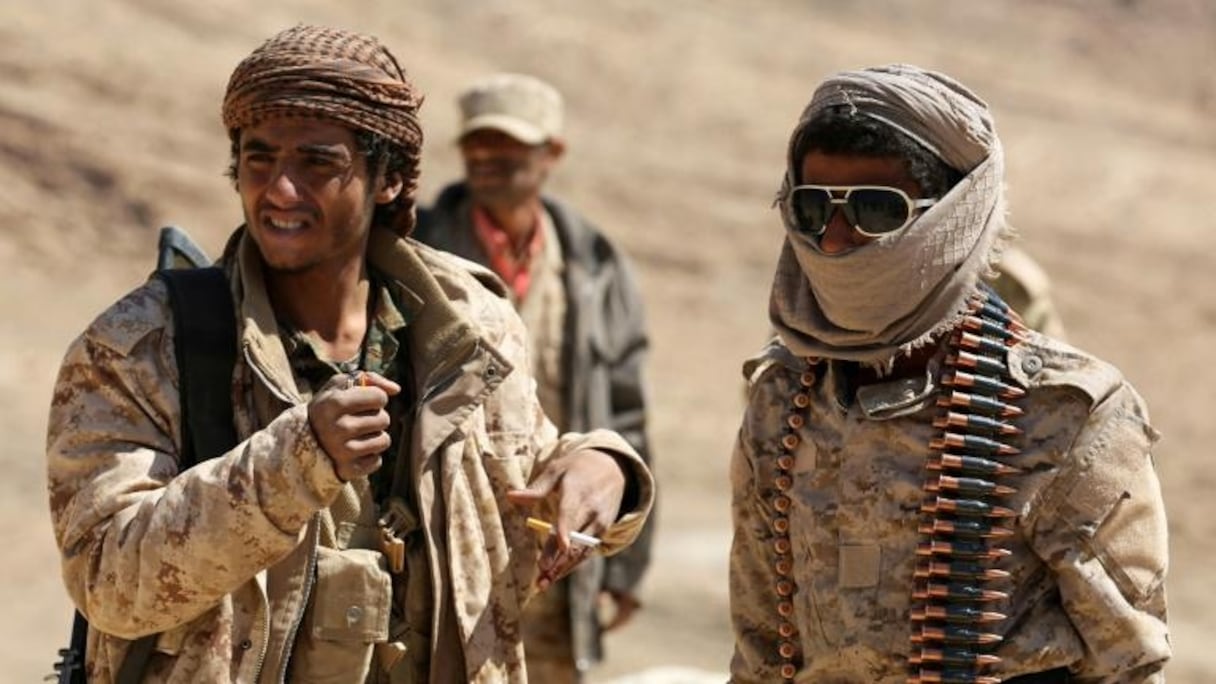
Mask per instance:
[[[939,353],[923,379],[857,388],[844,364],[809,365],[779,342],[745,366],[749,405],[731,467],[732,682],[783,680],[782,602],[796,630],[794,680],[907,680],[925,459],[942,434],[933,425],[944,411],[935,405],[941,361]],[[1014,439],[1023,452],[1004,460],[1024,472],[1002,480],[1018,489],[1004,504],[1017,517],[1004,544],[1012,555],[995,561],[1010,577],[992,588],[1008,598],[985,609],[1007,616],[984,624],[1003,637],[991,651],[1003,662],[991,672],[1006,679],[1066,667],[1077,682],[1161,682],[1166,520],[1144,404],[1113,366],[1037,333],[1012,347],[1006,365],[1026,396],[1014,402],[1025,415],[1012,419],[1025,431]],[[801,382],[811,385],[809,402],[795,409]],[[786,599],[773,503],[789,432],[800,442]]]

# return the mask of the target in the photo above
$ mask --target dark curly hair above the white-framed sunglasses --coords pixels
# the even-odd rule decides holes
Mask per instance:
[[[925,197],[941,197],[964,175],[899,129],[848,105],[828,107],[803,127],[794,144],[794,159],[809,152],[903,159]]]

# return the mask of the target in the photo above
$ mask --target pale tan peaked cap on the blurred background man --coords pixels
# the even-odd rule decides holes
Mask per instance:
[[[495,129],[539,145],[562,133],[562,95],[539,78],[501,73],[474,83],[460,96],[461,129]]]

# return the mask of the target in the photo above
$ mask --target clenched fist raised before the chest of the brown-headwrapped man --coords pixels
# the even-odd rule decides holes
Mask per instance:
[[[379,455],[392,443],[384,407],[400,391],[382,375],[359,371],[331,377],[309,402],[309,425],[343,482],[379,470]]]

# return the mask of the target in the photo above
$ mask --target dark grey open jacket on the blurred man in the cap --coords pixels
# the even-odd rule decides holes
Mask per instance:
[[[643,366],[649,347],[642,296],[629,259],[591,222],[570,206],[542,197],[561,242],[565,325],[561,351],[564,380],[562,415],[568,430],[607,427],[624,437],[653,465],[647,434]],[[488,263],[472,225],[472,200],[465,183],[449,185],[433,207],[418,212],[415,236],[467,259]],[[654,525],[637,543],[607,559],[589,562],[561,585],[570,598],[573,657],[580,668],[599,661],[599,592],[636,594],[651,562]],[[556,639],[554,639],[556,640]]]

